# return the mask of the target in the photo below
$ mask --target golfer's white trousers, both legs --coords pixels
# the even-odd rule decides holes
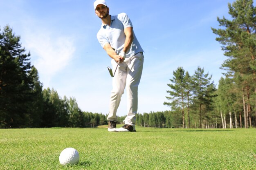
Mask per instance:
[[[113,88],[111,91],[110,110],[107,118],[109,121],[117,121],[117,108],[126,87],[128,113],[125,118],[125,124],[135,125],[138,110],[138,86],[141,79],[143,62],[143,53],[137,53],[132,57],[126,58],[118,67],[117,62],[112,59],[113,73],[116,67],[117,71],[112,78]]]

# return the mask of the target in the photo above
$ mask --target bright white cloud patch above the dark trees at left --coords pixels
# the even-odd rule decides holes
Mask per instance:
[[[55,37],[49,31],[27,31],[25,46],[31,52],[32,64],[38,69],[40,82],[48,86],[52,77],[63,70],[74,57],[74,40]]]

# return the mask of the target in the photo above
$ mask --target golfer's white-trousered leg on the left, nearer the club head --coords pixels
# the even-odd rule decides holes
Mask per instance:
[[[112,78],[112,91],[110,95],[110,108],[108,114],[108,121],[117,121],[117,108],[121,101],[121,96],[124,94],[124,88],[126,86],[126,70],[124,63],[119,64],[115,76]],[[112,60],[112,68],[115,69],[117,63]],[[113,73],[114,74],[114,73]]]

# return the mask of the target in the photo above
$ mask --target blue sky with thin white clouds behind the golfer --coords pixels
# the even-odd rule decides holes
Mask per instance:
[[[83,111],[108,113],[112,78],[110,57],[96,34],[101,26],[94,0],[0,0],[0,28],[9,24],[31,52],[44,88],[61,98],[75,97]],[[182,66],[193,75],[198,66],[215,84],[227,58],[211,27],[217,16],[229,18],[232,0],[106,0],[110,14],[125,12],[144,49],[144,70],[139,85],[139,113],[169,110],[167,84]],[[126,115],[126,92],[117,115]]]

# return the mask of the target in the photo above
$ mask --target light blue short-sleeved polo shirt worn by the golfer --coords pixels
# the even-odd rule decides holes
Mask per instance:
[[[109,43],[111,47],[115,49],[116,53],[119,54],[119,52],[124,49],[124,42],[126,39],[124,29],[127,27],[132,27],[132,22],[126,13],[120,13],[114,16],[111,15],[110,26],[102,24],[101,29],[97,33],[97,38],[102,48],[106,43]],[[126,52],[126,58],[134,56],[139,52],[143,52],[143,49],[133,31],[133,41],[130,49]]]

